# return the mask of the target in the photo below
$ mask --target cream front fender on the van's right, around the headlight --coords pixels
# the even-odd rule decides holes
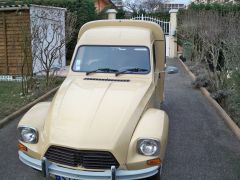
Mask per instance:
[[[168,138],[168,116],[159,109],[148,109],[140,119],[132,136],[128,156],[127,167],[129,169],[147,168],[146,161],[154,158],[164,159]],[[139,138],[154,138],[160,140],[160,154],[158,156],[144,156],[137,152],[137,140]]]

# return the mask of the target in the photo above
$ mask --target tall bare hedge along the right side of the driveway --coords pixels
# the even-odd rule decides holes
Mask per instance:
[[[208,88],[240,125],[240,13],[186,10],[178,18],[178,37],[193,46],[191,60],[202,64]]]

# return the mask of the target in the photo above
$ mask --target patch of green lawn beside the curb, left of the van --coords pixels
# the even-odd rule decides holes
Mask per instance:
[[[33,91],[26,96],[22,96],[21,82],[4,82],[0,81],[0,121],[11,113],[17,111],[24,105],[32,102],[50,89],[57,87],[63,79],[57,81],[51,87],[40,87],[40,90]]]

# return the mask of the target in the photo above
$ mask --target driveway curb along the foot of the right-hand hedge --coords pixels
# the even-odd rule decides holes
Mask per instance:
[[[185,71],[189,74],[191,79],[194,81],[196,80],[196,76],[189,70],[189,68],[184,64],[182,60],[180,60],[180,63],[182,64]],[[236,125],[236,123],[232,120],[232,118],[226,113],[226,111],[215,101],[208,90],[204,87],[200,88],[201,93],[207,98],[208,102],[213,106],[217,113],[224,119],[225,123],[229,126],[229,128],[233,131],[233,133],[237,136],[237,138],[240,140],[240,128]]]

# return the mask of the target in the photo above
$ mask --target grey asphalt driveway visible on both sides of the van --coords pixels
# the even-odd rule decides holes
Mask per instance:
[[[240,142],[175,60],[179,74],[166,77],[164,109],[170,117],[163,180],[240,180]],[[17,156],[16,126],[0,129],[0,179],[40,180],[41,174]]]

